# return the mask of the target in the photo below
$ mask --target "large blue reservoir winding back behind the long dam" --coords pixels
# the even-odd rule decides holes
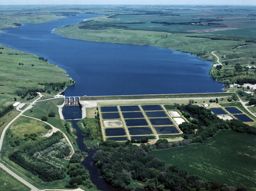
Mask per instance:
[[[211,62],[194,55],[149,45],[98,43],[68,39],[55,28],[102,15],[77,14],[41,24],[3,29],[8,48],[47,58],[76,84],[66,96],[146,95],[223,92],[210,78]]]

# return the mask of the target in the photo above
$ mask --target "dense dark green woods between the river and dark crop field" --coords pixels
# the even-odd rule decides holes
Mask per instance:
[[[162,139],[163,140],[163,139]],[[166,140],[167,141],[167,140]],[[94,163],[102,173],[102,177],[113,187],[124,189],[133,180],[143,182],[148,190],[164,191],[227,191],[227,185],[210,182],[200,176],[189,174],[175,165],[167,165],[165,161],[147,155],[147,145],[132,145],[129,140],[122,146],[105,146],[102,143],[94,156]],[[115,141],[108,141],[108,143]],[[168,142],[168,141],[167,141]],[[158,143],[160,145],[161,143]],[[239,188],[237,191],[244,190]],[[245,189],[246,190],[246,189]]]

